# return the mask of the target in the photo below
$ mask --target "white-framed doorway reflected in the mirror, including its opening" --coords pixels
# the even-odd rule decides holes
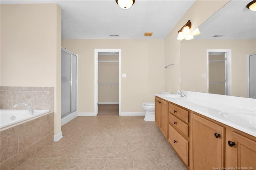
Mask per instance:
[[[207,50],[207,92],[231,95],[231,50]]]

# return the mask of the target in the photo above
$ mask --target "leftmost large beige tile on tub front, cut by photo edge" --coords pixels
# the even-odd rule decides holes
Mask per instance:
[[[0,162],[18,153],[18,127],[0,132]]]

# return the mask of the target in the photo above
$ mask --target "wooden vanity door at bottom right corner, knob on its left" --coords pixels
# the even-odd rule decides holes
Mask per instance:
[[[226,145],[232,146],[232,167],[256,169],[256,141],[232,132],[232,139]]]

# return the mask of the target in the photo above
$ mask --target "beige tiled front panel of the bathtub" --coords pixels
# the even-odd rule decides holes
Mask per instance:
[[[14,170],[52,143],[54,112],[0,131],[0,169]]]

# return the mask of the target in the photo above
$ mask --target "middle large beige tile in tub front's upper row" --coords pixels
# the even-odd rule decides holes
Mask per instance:
[[[34,119],[20,125],[19,152],[40,139],[40,119]]]

